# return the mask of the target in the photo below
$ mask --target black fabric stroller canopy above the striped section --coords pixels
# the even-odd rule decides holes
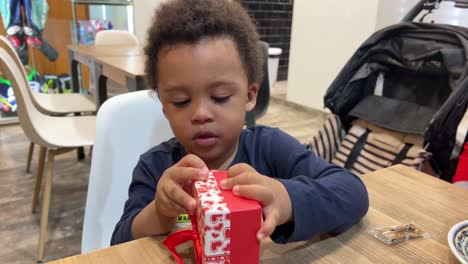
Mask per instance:
[[[325,95],[345,128],[361,118],[424,135],[442,178],[468,104],[468,29],[406,22],[382,29],[355,52]],[[466,134],[466,131],[465,131]]]

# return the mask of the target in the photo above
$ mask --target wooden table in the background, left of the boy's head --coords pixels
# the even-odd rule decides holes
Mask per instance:
[[[113,61],[112,59],[116,59]],[[109,59],[109,60],[108,60]],[[68,60],[74,92],[79,92],[79,64],[90,67],[96,82],[96,105],[107,99],[107,78],[127,86],[129,91],[144,89],[143,49],[135,45],[68,46]],[[105,68],[105,69],[104,69]],[[123,79],[128,79],[124,83]]]

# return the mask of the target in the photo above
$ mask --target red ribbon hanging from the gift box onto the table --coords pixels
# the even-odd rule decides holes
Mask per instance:
[[[202,264],[202,249],[200,244],[200,236],[197,230],[197,220],[194,216],[190,216],[190,221],[192,222],[192,230],[181,229],[175,231],[174,233],[170,234],[166,239],[164,239],[163,245],[166,246],[167,249],[169,249],[177,263],[182,264],[184,263],[184,261],[182,261],[182,259],[180,258],[175,247],[192,240],[193,246],[195,248],[195,257],[197,259],[197,264]]]

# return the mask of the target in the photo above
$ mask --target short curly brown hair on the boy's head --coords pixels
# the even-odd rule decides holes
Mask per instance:
[[[227,0],[173,0],[157,8],[148,30],[145,74],[149,87],[157,91],[157,62],[162,48],[217,36],[234,41],[249,84],[260,85],[263,53],[256,27],[242,6]]]

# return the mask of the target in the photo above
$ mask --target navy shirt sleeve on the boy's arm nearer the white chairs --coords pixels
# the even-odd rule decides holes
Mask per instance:
[[[156,184],[160,173],[154,171],[155,159],[150,156],[142,156],[133,170],[133,178],[128,190],[128,200],[125,202],[124,211],[112,233],[111,245],[116,245],[133,240],[132,222],[152,200],[156,193]],[[153,171],[151,169],[153,168]]]

